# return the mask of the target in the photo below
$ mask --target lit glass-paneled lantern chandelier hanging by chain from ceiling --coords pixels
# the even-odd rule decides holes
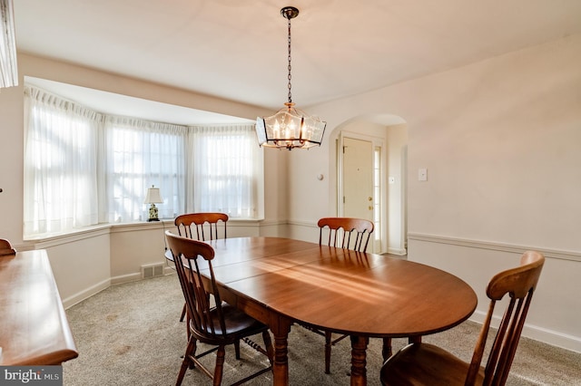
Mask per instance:
[[[267,148],[309,149],[320,146],[327,122],[294,107],[291,96],[291,19],[297,17],[299,10],[293,6],[285,6],[281,9],[281,14],[289,21],[289,101],[276,114],[258,117],[256,134],[259,145]]]

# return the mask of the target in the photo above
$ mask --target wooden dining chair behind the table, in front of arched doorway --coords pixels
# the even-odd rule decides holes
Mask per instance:
[[[323,217],[317,223],[319,226],[319,245],[350,249],[356,252],[366,252],[369,245],[369,237],[373,233],[373,223],[363,218],[352,217]],[[330,352],[332,346],[339,343],[349,335],[333,337],[333,333],[327,330],[300,324],[307,330],[325,337],[325,373],[330,373]],[[391,340],[386,338],[385,344],[391,350]]]

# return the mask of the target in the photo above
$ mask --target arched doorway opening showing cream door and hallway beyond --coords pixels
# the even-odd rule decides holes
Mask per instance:
[[[373,219],[376,231],[370,252],[406,255],[406,121],[391,114],[359,116],[338,125],[329,138],[337,215]],[[368,180],[361,175],[369,173],[370,187],[361,182]]]

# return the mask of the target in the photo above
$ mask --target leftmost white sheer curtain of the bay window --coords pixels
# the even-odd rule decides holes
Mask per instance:
[[[25,87],[25,235],[97,224],[103,116]]]

